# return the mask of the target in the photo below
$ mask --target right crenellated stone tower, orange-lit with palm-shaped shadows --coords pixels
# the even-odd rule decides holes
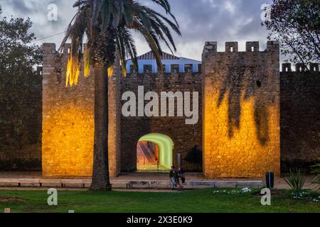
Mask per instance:
[[[233,52],[231,52],[233,51]],[[206,177],[280,173],[279,45],[208,42],[203,50],[203,171]]]

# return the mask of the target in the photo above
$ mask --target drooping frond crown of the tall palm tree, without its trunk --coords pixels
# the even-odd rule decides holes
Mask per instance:
[[[173,53],[176,51],[176,45],[171,29],[178,35],[181,35],[181,31],[171,13],[169,0],[150,1],[164,9],[166,16],[133,0],[80,0],[73,5],[79,9],[70,21],[59,48],[59,51],[62,50],[68,39],[71,39],[67,86],[78,83],[84,34],[88,39],[87,48],[84,50],[85,77],[90,74],[90,66],[100,64],[106,64],[109,67],[108,74],[112,75],[113,67],[110,65],[114,65],[116,50],[122,65],[122,74],[127,72],[128,58],[131,58],[134,70],[139,72],[137,48],[130,29],[142,33],[154,53],[156,64],[163,72],[161,42]]]

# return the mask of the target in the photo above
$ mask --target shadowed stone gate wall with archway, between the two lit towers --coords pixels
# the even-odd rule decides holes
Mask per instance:
[[[202,83],[201,74],[129,74],[122,78],[121,93],[132,91],[138,96],[138,86],[144,86],[144,94],[149,91],[199,92],[199,119],[194,125],[186,125],[186,117],[124,117],[121,120],[121,164],[122,171],[137,170],[137,143],[139,138],[149,133],[162,133],[174,141],[174,165],[178,166],[178,153],[186,158],[191,148],[202,145]],[[122,101],[124,103],[125,101]],[[147,103],[147,101],[146,101]],[[192,101],[191,101],[192,103]],[[160,109],[159,109],[160,110]],[[201,165],[182,161],[189,172],[202,172]]]

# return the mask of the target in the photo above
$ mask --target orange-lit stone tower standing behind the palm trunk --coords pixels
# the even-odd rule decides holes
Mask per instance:
[[[80,75],[78,86],[65,87],[70,45],[59,55],[55,45],[43,44],[43,176],[91,176],[94,138],[94,77]],[[92,70],[94,74],[94,70]],[[119,173],[119,100],[117,80],[110,78],[110,175]],[[118,113],[119,114],[119,113]]]

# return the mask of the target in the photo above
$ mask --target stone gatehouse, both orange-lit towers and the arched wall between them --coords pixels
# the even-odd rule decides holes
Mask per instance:
[[[233,52],[228,52],[231,45]],[[265,52],[258,51],[257,43],[248,45],[254,46],[253,52],[238,52],[238,43],[227,43],[227,52],[216,52],[216,45],[207,43],[203,56],[204,80],[202,75],[195,74],[131,75],[112,79],[120,82],[120,86],[110,84],[110,90],[119,89],[121,94],[128,90],[137,92],[139,85],[144,86],[145,92],[201,92],[203,88],[204,96],[200,98],[203,97],[205,116],[203,121],[200,116],[195,126],[187,126],[184,118],[178,117],[121,117],[117,118],[116,124],[110,122],[110,167],[116,168],[112,175],[117,175],[119,170],[137,169],[137,141],[142,135],[154,132],[164,133],[174,140],[175,164],[176,153],[185,156],[194,145],[202,145],[203,170],[208,177],[257,177],[268,170],[279,175],[279,45],[268,43]],[[51,48],[51,51],[55,50]],[[59,58],[64,58],[60,65],[62,69],[65,68],[68,46],[64,52],[65,55]],[[50,58],[48,60],[52,61]],[[46,70],[60,71],[53,70],[50,65],[45,67],[43,75],[46,77],[49,74],[50,79],[57,76],[54,77]],[[64,72],[60,77],[63,79]],[[83,82],[86,80],[89,80],[87,84]],[[52,99],[50,102],[54,95],[43,92],[43,99],[49,99],[43,104],[43,174],[90,175],[92,77],[82,78],[78,87],[73,88],[66,88],[65,84],[53,85],[53,82],[48,84],[55,86],[48,89],[55,92],[55,96],[57,92],[63,92],[65,96],[60,94],[60,101]],[[119,95],[111,92],[110,99],[119,99]],[[49,106],[48,111],[46,106]],[[117,114],[114,118],[119,115],[119,106],[110,101],[110,121],[112,114]],[[120,132],[120,136],[112,131]],[[56,135],[58,137],[55,138]],[[117,142],[120,138],[121,152],[112,148],[117,144],[112,137],[117,138]],[[114,157],[120,157],[120,160],[114,160]],[[186,170],[191,170],[188,165]]]

